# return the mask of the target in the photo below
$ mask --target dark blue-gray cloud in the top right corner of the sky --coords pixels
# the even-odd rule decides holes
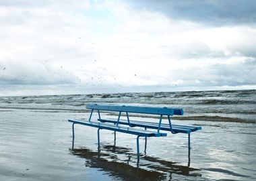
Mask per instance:
[[[256,23],[255,0],[131,0],[129,3],[135,9],[157,11],[172,19],[198,21],[206,25]]]

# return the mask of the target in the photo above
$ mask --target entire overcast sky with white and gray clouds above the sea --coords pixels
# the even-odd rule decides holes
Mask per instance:
[[[238,88],[254,0],[0,0],[0,96]]]

